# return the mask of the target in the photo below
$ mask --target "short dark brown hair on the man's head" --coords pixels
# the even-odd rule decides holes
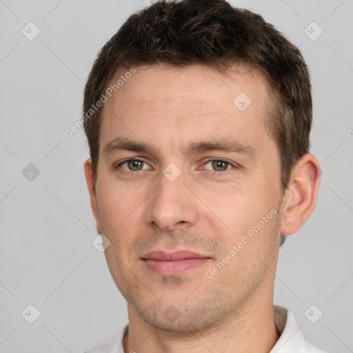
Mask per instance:
[[[103,46],[85,85],[83,125],[97,181],[102,108],[92,110],[121,68],[166,63],[207,65],[225,73],[234,64],[260,70],[272,90],[266,126],[276,142],[281,186],[310,148],[312,97],[301,52],[259,14],[225,0],[161,0],[132,14]],[[88,117],[88,112],[92,114]]]

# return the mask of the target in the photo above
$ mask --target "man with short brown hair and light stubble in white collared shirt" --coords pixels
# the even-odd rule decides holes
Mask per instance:
[[[85,86],[85,177],[129,323],[97,352],[323,352],[273,305],[284,237],[314,210],[299,50],[224,0],[159,1]]]

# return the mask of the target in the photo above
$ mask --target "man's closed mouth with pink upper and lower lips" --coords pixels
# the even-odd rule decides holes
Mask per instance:
[[[209,256],[190,251],[162,252],[152,251],[145,254],[141,260],[151,272],[163,276],[177,276],[198,268],[210,261]]]

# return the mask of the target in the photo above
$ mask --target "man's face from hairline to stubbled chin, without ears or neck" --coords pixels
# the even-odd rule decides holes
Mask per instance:
[[[152,65],[105,103],[94,214],[129,316],[196,332],[271,296],[282,194],[269,92],[259,72]]]

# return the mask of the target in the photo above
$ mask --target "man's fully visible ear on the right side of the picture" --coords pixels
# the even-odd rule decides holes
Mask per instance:
[[[319,161],[305,154],[296,163],[283,196],[281,233],[294,234],[314,211],[321,179]]]

